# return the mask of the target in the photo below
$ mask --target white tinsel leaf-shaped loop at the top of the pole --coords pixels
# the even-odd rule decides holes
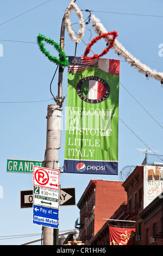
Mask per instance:
[[[71,10],[74,10],[78,16],[78,18],[80,19],[80,21],[78,22],[80,28],[79,28],[79,32],[78,32],[78,36],[74,35],[74,31],[72,30],[71,27],[71,21],[70,21],[70,16],[71,16]],[[84,20],[83,20],[83,14],[82,11],[80,11],[80,9],[78,8],[77,4],[70,2],[70,4],[68,5],[66,12],[65,12],[65,27],[67,29],[67,33],[68,35],[70,35],[70,38],[72,39],[72,41],[75,41],[77,43],[79,43],[84,35]]]

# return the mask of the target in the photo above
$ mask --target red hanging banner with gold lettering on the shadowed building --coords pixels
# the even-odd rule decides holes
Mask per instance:
[[[109,226],[110,245],[135,245],[135,228]]]

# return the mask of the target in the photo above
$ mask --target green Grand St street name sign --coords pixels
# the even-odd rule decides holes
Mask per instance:
[[[29,161],[29,160],[7,160],[7,172],[10,173],[33,173],[34,166],[43,166],[43,161]]]

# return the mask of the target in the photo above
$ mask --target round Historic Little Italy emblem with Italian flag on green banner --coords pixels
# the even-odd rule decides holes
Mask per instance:
[[[77,94],[87,103],[100,103],[109,96],[109,84],[100,77],[87,76],[77,84]]]

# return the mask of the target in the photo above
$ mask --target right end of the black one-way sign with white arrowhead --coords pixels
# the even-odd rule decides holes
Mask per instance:
[[[76,205],[75,188],[61,188],[60,189],[60,206]]]

